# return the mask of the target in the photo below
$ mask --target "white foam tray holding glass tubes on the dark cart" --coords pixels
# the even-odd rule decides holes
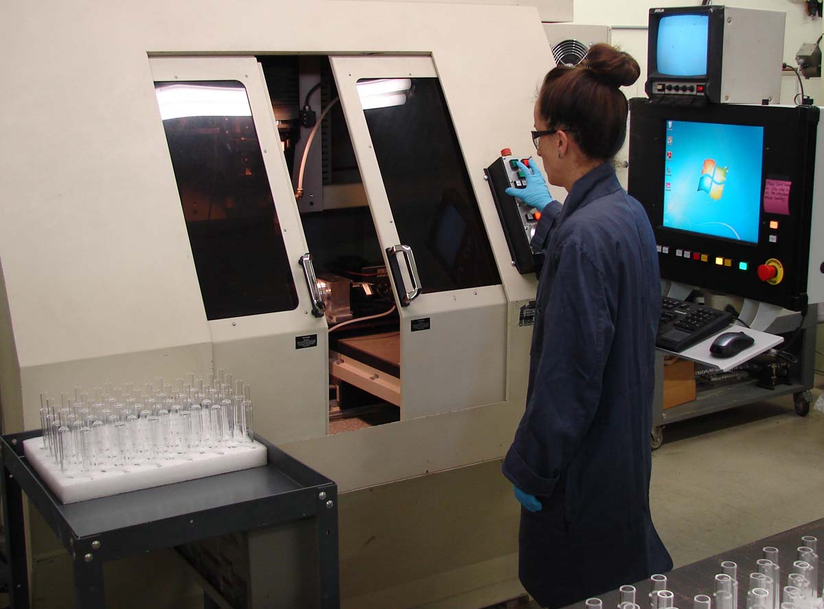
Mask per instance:
[[[163,459],[159,465],[142,462],[108,471],[70,473],[60,471],[60,466],[49,455],[49,450],[43,447],[42,438],[26,440],[23,452],[49,490],[63,504],[266,465],[266,447],[257,442]]]

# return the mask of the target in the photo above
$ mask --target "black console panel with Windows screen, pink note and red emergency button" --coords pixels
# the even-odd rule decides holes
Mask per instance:
[[[806,307],[818,114],[630,101],[628,190],[663,279]]]

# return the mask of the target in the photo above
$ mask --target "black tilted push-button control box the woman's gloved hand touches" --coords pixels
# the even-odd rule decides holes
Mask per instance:
[[[509,148],[503,148],[501,156],[484,172],[489,188],[492,189],[495,207],[498,208],[513,265],[519,273],[527,274],[534,272],[543,262],[543,253],[533,251],[530,245],[535,227],[541,219],[541,212],[506,193],[510,187],[517,189],[527,186],[526,176],[518,169],[518,160]],[[526,166],[531,162],[528,158],[521,158],[520,161]]]

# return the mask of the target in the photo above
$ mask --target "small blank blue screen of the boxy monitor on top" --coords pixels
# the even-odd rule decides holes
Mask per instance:
[[[666,76],[705,76],[707,73],[708,15],[667,15],[658,21],[658,73]]]

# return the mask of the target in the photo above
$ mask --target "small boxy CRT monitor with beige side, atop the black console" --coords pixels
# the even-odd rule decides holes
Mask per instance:
[[[648,26],[649,96],[779,103],[784,12],[651,8]]]

